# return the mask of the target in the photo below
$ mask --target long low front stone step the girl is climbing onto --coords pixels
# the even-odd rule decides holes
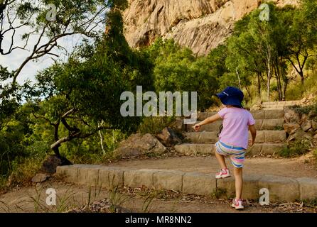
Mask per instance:
[[[129,167],[108,167],[104,165],[58,166],[56,174],[65,182],[107,189],[147,187],[166,189],[183,194],[208,195],[216,189],[225,189],[222,196],[235,196],[234,177],[215,179],[213,174],[184,172],[179,170],[135,170]],[[317,179],[308,177],[281,177],[276,175],[245,175],[243,183],[244,199],[259,199],[259,190],[269,189],[270,202],[293,202],[315,199]]]

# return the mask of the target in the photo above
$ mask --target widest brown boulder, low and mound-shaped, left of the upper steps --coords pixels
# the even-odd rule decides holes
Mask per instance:
[[[147,153],[161,154],[165,153],[166,150],[166,147],[154,135],[136,133],[129,136],[127,140],[123,140],[114,152],[122,157],[131,157]]]

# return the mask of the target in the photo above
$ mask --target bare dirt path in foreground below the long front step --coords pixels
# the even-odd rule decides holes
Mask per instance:
[[[37,189],[36,189],[37,188]],[[57,192],[57,205],[45,205],[45,190],[54,188]],[[135,190],[135,189],[134,189]],[[144,201],[146,193],[128,192],[122,189],[117,194],[117,203],[120,198],[124,207],[131,212],[144,211]],[[134,191],[135,192],[135,191]],[[173,193],[173,192],[166,192]],[[105,198],[109,198],[111,193],[105,189],[89,189],[87,187],[75,184],[65,184],[63,182],[45,182],[33,187],[25,187],[15,192],[8,192],[0,195],[0,212],[65,212],[80,206],[88,204],[90,195],[90,204],[96,203]],[[38,202],[36,202],[38,201]],[[230,207],[228,199],[210,199],[200,196],[181,195],[175,193],[167,199],[156,198],[151,201],[150,212],[201,212],[201,213],[218,213],[218,212],[317,212],[317,209],[301,207],[300,204],[271,204],[269,206],[260,206],[256,201],[248,201],[245,204],[245,210],[236,211]]]

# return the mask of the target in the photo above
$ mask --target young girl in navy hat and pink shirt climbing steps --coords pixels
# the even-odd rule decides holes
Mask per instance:
[[[245,151],[248,146],[248,130],[251,132],[252,140],[249,145],[254,144],[256,130],[254,127],[254,118],[246,109],[242,108],[243,92],[235,87],[227,87],[223,92],[216,94],[225,108],[221,109],[214,116],[206,118],[204,121],[195,124],[195,131],[200,130],[200,126],[213,123],[219,119],[222,121],[222,131],[219,135],[219,141],[215,143],[215,157],[220,164],[221,170],[215,176],[217,179],[230,177],[230,171],[225,164],[225,156],[230,155],[235,175],[235,199],[232,201],[232,207],[243,209],[242,204],[242,167],[245,161]]]

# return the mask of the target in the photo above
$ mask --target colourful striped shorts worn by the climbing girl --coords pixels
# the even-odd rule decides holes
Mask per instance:
[[[218,141],[215,143],[215,150],[220,155],[230,155],[232,165],[235,167],[243,167],[243,162],[245,162],[245,148],[227,145],[221,141]]]

